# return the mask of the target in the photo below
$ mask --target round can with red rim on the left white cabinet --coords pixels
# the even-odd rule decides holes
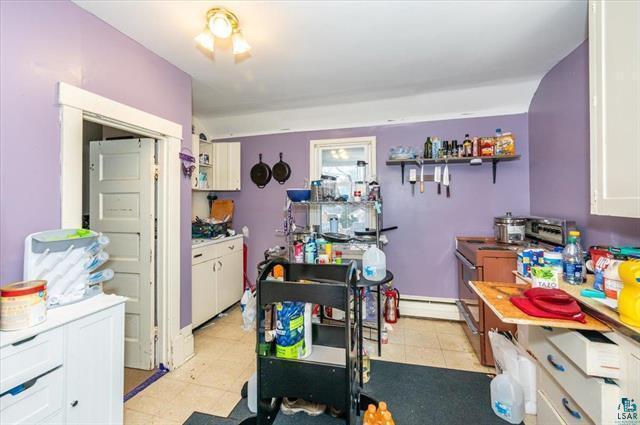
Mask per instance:
[[[47,318],[46,280],[14,282],[0,288],[0,330],[17,331]]]

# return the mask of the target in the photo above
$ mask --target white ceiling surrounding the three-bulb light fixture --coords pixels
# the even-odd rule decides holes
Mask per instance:
[[[190,74],[194,115],[218,119],[539,81],[587,34],[586,0],[75,2]],[[214,6],[250,58],[195,47]]]

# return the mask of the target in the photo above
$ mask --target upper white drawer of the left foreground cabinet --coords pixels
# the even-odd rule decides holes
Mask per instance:
[[[60,366],[63,359],[62,328],[2,347],[0,394]]]

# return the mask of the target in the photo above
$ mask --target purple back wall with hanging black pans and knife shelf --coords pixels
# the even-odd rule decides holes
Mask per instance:
[[[283,243],[275,230],[282,229],[285,190],[302,187],[309,175],[309,140],[376,136],[384,224],[400,227],[388,233],[387,267],[395,274],[395,283],[403,294],[456,298],[454,237],[492,235],[494,216],[506,211],[529,213],[527,125],[527,115],[518,114],[228,139],[242,143],[242,191],[222,195],[236,202],[236,229],[245,225],[250,229],[250,279],[256,277],[255,265],[263,259],[263,251]],[[462,141],[465,133],[491,135],[497,127],[516,135],[522,160],[501,163],[495,185],[491,183],[490,165],[458,164],[450,166],[451,198],[437,196],[433,183],[425,184],[423,194],[416,187],[415,197],[411,197],[411,186],[400,184],[400,167],[385,165],[392,146],[422,146],[429,135]],[[270,165],[278,161],[278,152],[284,152],[284,160],[292,167],[291,180],[282,186],[272,181],[265,189],[258,189],[249,171],[260,152]],[[433,168],[425,167],[425,173],[433,174]]]

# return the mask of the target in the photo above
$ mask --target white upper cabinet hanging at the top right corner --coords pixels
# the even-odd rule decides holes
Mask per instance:
[[[640,217],[640,2],[589,2],[591,213]]]

